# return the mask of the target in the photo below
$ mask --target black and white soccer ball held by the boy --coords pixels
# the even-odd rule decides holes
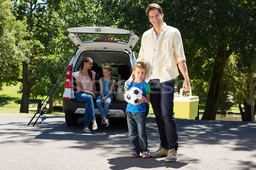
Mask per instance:
[[[142,99],[143,92],[139,88],[132,87],[129,88],[128,91],[126,91],[126,100],[128,103],[132,105],[138,105],[138,101]]]

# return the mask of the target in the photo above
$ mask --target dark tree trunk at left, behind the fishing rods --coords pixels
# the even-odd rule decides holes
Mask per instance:
[[[28,80],[28,63],[22,62],[22,97],[20,103],[20,113],[29,113],[29,96],[30,96],[29,80]]]

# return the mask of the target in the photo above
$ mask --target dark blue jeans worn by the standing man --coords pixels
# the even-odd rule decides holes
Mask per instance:
[[[159,82],[151,79],[148,82],[151,88],[150,103],[160,134],[161,146],[167,150],[178,149],[178,135],[173,115],[174,79]]]

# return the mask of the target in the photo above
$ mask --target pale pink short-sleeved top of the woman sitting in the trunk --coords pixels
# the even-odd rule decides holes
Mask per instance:
[[[95,71],[92,71],[93,74],[93,79],[95,77]],[[93,79],[91,80],[89,75],[88,76],[82,76],[80,71],[76,71],[74,73],[72,73],[72,76],[75,77],[79,82],[81,82],[81,86],[83,89],[87,90],[87,91],[93,91]],[[77,88],[77,91],[78,88]]]

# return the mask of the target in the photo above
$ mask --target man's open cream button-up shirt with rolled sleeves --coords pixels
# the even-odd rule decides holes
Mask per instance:
[[[186,57],[180,31],[172,26],[167,26],[166,23],[163,23],[160,29],[162,33],[157,48],[158,78],[160,82],[166,82],[175,79],[179,75],[177,63],[186,61]],[[141,38],[140,53],[137,61],[145,62],[147,65],[145,82],[149,82],[151,79],[155,39],[154,28],[145,31]]]

